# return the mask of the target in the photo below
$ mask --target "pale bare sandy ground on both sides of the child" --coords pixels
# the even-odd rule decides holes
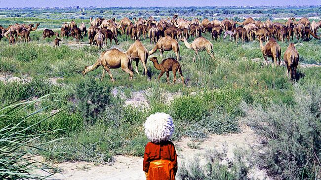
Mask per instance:
[[[211,135],[206,141],[199,144],[199,148],[192,149],[188,146],[190,138],[183,138],[179,142],[174,142],[178,154],[178,166],[183,161],[187,162],[194,156],[200,156],[208,149],[216,148],[222,151],[227,148],[228,157],[234,156],[236,148],[250,148],[257,143],[254,132],[247,126],[241,128],[239,134]],[[196,143],[198,144],[198,143]],[[143,158],[133,156],[114,156],[115,163],[109,165],[95,166],[90,162],[63,162],[54,164],[61,172],[52,178],[59,180],[144,180],[145,173],[142,171]],[[256,171],[256,170],[254,170]],[[263,172],[253,172],[253,176],[258,179],[264,178]]]

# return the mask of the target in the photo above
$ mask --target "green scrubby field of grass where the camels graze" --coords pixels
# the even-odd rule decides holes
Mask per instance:
[[[179,16],[202,19],[210,17],[209,15],[217,13],[216,11],[221,14],[218,19],[252,15],[257,19],[270,17],[273,20],[276,17],[284,17],[282,16],[284,14],[289,15],[289,17],[292,15],[302,17],[310,14],[320,16],[320,8],[319,6],[300,8],[233,7],[225,14],[222,7],[214,9],[210,7],[157,8],[158,11],[152,7],[141,9],[85,8],[83,12],[81,12],[81,8],[68,10],[0,9],[0,25],[6,27],[16,22],[40,23],[39,28],[53,29],[60,28],[62,22],[69,22],[71,19],[75,19],[77,23],[88,23],[89,17],[96,17],[97,12],[105,18],[116,17],[118,21],[122,17],[128,16],[128,13],[131,13],[131,17],[143,16],[145,18],[150,15],[167,17],[172,16],[173,13],[178,13]],[[260,10],[260,13],[253,14],[253,10]],[[267,14],[269,15],[267,16]],[[280,21],[284,22],[285,20]],[[312,22],[312,19],[310,21]],[[320,32],[319,30],[318,35],[320,35]],[[271,126],[262,125],[262,127],[259,127],[263,120],[260,122],[260,119],[255,119],[257,116],[251,114],[253,111],[258,114],[278,113],[271,115],[271,117],[264,116],[266,119],[262,119],[266,120],[264,122],[267,124],[272,122],[270,120],[277,121],[275,123],[279,124],[278,126],[275,125],[275,132],[280,133],[278,134],[280,137],[289,136],[290,132],[300,134],[297,135],[299,137],[283,139],[283,141],[292,141],[292,143],[301,140],[305,142],[308,139],[307,137],[315,135],[310,133],[310,124],[304,119],[309,118],[310,122],[316,123],[316,127],[321,124],[321,67],[313,66],[321,64],[320,39],[302,41],[294,38],[291,41],[300,54],[300,64],[295,83],[288,79],[284,66],[276,67],[264,63],[258,41],[235,43],[228,40],[223,41],[221,36],[217,41],[211,41],[215,60],[212,60],[206,52],[201,52],[196,63],[192,61],[194,51],[187,49],[184,43],[179,42],[182,57],[179,62],[186,79],[186,86],[183,87],[179,78],[174,85],[166,83],[165,75],[162,76],[160,81],[157,81],[160,72],[154,68],[150,61],[147,62],[148,77],[135,73],[133,79],[130,80],[127,73],[115,69],[111,70],[116,80],[114,83],[110,81],[108,75],[105,76],[103,81],[100,81],[99,78],[103,71],[101,67],[82,76],[81,71],[84,66],[92,65],[102,51],[111,48],[126,51],[133,41],[126,41],[124,35],[118,36],[120,45],[116,46],[113,41],[111,46],[108,42],[102,50],[96,46],[89,46],[88,37],[84,37],[80,44],[77,44],[76,40],[71,37],[65,38],[60,48],[54,48],[52,43],[54,37],[41,39],[41,36],[42,31],[31,32],[31,42],[17,42],[13,46],[10,46],[5,38],[0,41],[0,77],[3,79],[0,81],[0,107],[3,108],[11,103],[17,104],[29,99],[36,100],[48,95],[44,98],[45,101],[33,103],[9,117],[0,116],[0,128],[14,126],[18,123],[22,127],[29,127],[39,122],[40,119],[56,113],[33,126],[34,131],[45,132],[45,134],[31,143],[32,145],[37,146],[37,144],[54,139],[67,138],[41,145],[41,148],[48,151],[32,149],[32,153],[40,154],[46,160],[54,162],[91,161],[104,164],[113,163],[114,155],[142,156],[145,144],[148,142],[144,135],[143,124],[147,116],[159,111],[169,113],[174,119],[176,127],[173,141],[179,141],[182,137],[202,141],[210,134],[239,133],[243,123],[253,127],[259,136],[267,137],[263,132],[268,133],[270,131],[268,128],[271,128]],[[208,33],[203,36],[210,39]],[[188,39],[189,42],[193,40],[194,37]],[[149,39],[142,39],[142,43],[148,50],[154,47],[149,43]],[[288,42],[278,43],[281,45],[282,61]],[[159,52],[151,55],[151,57],[154,56],[158,57],[159,60],[161,59]],[[163,56],[164,58],[175,57],[175,54],[172,51],[166,51]],[[306,66],[307,64],[312,66]],[[143,74],[141,63],[139,63],[139,72]],[[21,80],[6,81],[13,76],[19,77]],[[170,73],[171,82],[172,78],[172,73]],[[115,93],[116,90],[120,92],[118,95]],[[125,101],[131,100],[135,93],[140,93],[148,106],[135,108],[124,106]],[[173,97],[173,94],[177,96]],[[310,105],[304,100],[311,96],[315,99]],[[306,97],[307,99],[298,100],[298,97]],[[169,101],[169,99],[172,100]],[[88,103],[88,101],[91,103]],[[248,110],[249,107],[253,109],[250,111]],[[313,109],[311,110],[313,115],[299,116],[298,113],[306,112],[299,107],[310,107],[305,108],[305,110]],[[290,109],[289,111],[292,114],[288,113],[287,115],[280,110],[282,108]],[[57,111],[59,112],[57,113]],[[1,110],[2,114],[5,114],[5,112],[6,109]],[[28,116],[33,112],[37,113]],[[26,116],[28,117],[25,118]],[[293,128],[291,131],[285,132],[282,129],[283,124],[281,122],[289,117],[298,118],[290,122],[296,123],[293,124],[293,127],[298,126],[299,128]],[[244,121],[244,119],[247,119],[247,121]],[[284,120],[284,122],[288,121]],[[313,127],[315,126],[313,125]],[[33,134],[34,131],[27,131],[27,134]],[[315,131],[320,132],[320,129]],[[311,132],[314,131],[311,130]],[[316,142],[320,142],[320,134],[315,135],[314,138]],[[274,140],[277,140],[277,138]],[[268,147],[278,146],[277,143],[280,142],[270,141],[271,146]],[[308,148],[307,146],[309,145],[305,146],[302,143],[297,145],[295,150]],[[316,156],[320,158],[321,150],[319,146],[316,145],[313,148]],[[286,145],[282,147],[285,149]],[[293,153],[298,152],[295,150],[293,150]],[[291,153],[292,151],[289,152],[289,154]],[[273,153],[271,152],[271,154]],[[301,163],[311,165],[311,158],[313,157],[310,157],[308,152],[302,152],[300,158]],[[264,162],[269,163],[267,159]],[[301,173],[304,179],[310,179],[313,177],[312,172],[315,170],[313,168],[319,168],[315,172],[320,173],[321,165],[291,167],[296,167],[298,172],[295,173]],[[306,172],[302,173],[302,171]],[[277,175],[272,170],[271,173]],[[299,179],[294,174],[292,178]]]

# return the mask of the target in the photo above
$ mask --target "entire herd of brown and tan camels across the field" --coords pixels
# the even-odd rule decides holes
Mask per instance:
[[[169,72],[174,74],[174,81],[176,80],[176,72],[178,71],[182,83],[184,84],[184,77],[182,75],[180,60],[179,41],[183,41],[184,45],[188,49],[194,50],[193,61],[196,61],[196,56],[200,51],[206,51],[212,59],[214,58],[213,44],[207,40],[202,34],[209,33],[211,40],[220,38],[223,39],[230,36],[230,41],[254,41],[255,39],[260,42],[260,49],[263,57],[267,62],[267,58],[272,58],[272,61],[276,65],[280,65],[281,47],[278,41],[290,41],[295,35],[297,39],[310,40],[310,36],[319,39],[317,35],[318,29],[321,27],[321,21],[313,21],[310,23],[309,19],[304,17],[299,21],[295,18],[289,18],[285,23],[272,22],[267,20],[266,22],[255,21],[251,17],[245,19],[243,22],[238,22],[230,19],[224,19],[223,21],[203,19],[200,21],[198,18],[194,18],[189,21],[184,18],[179,18],[174,15],[172,18],[167,18],[156,21],[152,16],[148,19],[133,18],[132,22],[127,17],[121,19],[119,22],[112,19],[104,18],[90,18],[90,27],[86,28],[84,23],[80,26],[76,24],[74,20],[70,23],[63,23],[61,26],[60,36],[68,37],[72,36],[76,38],[77,42],[83,36],[88,36],[89,44],[99,46],[102,48],[104,44],[107,45],[107,39],[114,40],[118,44],[118,35],[126,35],[126,40],[130,37],[134,43],[125,52],[121,52],[118,49],[111,49],[101,53],[98,60],[91,66],[86,66],[82,71],[82,74],[95,70],[99,66],[103,66],[104,71],[108,72],[112,81],[114,81],[113,75],[110,69],[121,68],[122,71],[127,72],[130,78],[133,77],[132,72],[132,60],[135,61],[135,71],[138,72],[138,63],[142,62],[144,67],[144,74],[147,75],[147,59],[150,55],[159,50],[161,59],[164,51],[173,50],[176,55],[176,60],[173,58],[167,58],[158,63],[157,58],[150,58],[154,67],[160,70],[160,76],[166,72],[167,82],[169,80]],[[0,26],[0,40],[2,37],[6,37],[10,44],[14,44],[20,36],[20,41],[28,42],[31,40],[30,33],[36,31],[40,24],[15,24],[10,25],[7,28]],[[59,46],[59,34],[50,29],[44,29],[42,38],[56,36],[54,39],[55,46]],[[195,36],[192,43],[187,41],[189,36]],[[150,43],[155,44],[155,47],[148,51],[145,46],[140,42],[141,38],[150,38]],[[264,42],[266,42],[264,44]],[[287,67],[287,75],[294,79],[296,68],[299,62],[299,54],[294,47],[293,43],[289,43],[288,48],[284,54],[284,63]]]

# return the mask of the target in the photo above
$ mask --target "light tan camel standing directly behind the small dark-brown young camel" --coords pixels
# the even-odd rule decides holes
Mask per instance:
[[[162,59],[162,53],[164,51],[170,51],[170,50],[173,50],[176,54],[177,60],[179,59],[179,44],[177,40],[171,38],[170,36],[161,37],[157,41],[155,47],[148,52],[148,55],[154,54],[157,50],[160,51],[161,59]]]

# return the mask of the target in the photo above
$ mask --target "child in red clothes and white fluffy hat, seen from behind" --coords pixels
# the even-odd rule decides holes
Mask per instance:
[[[145,147],[143,171],[147,180],[175,180],[177,154],[169,141],[174,132],[170,115],[158,112],[150,115],[145,124],[145,134],[151,141]]]

